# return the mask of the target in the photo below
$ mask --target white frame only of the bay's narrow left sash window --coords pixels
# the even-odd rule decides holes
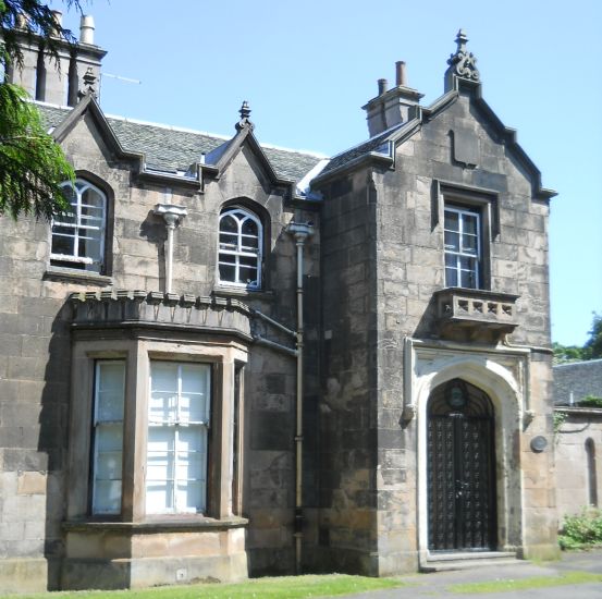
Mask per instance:
[[[121,381],[121,418],[113,420],[100,419],[100,391],[101,391],[101,368],[105,365],[120,365],[122,367],[122,381]],[[91,513],[94,515],[109,515],[109,514],[121,514],[121,499],[123,496],[123,420],[124,420],[124,411],[125,411],[125,368],[126,364],[124,359],[98,359],[95,362],[95,377],[94,377],[94,465],[93,465],[93,492],[91,492]],[[115,470],[119,470],[119,477],[110,478],[109,480],[114,480],[120,482],[120,497],[118,502],[118,508],[114,510],[102,509],[99,505],[98,499],[98,484],[101,480],[99,478],[99,437],[100,429],[103,426],[121,426],[121,449],[114,451],[121,455],[119,467]]]

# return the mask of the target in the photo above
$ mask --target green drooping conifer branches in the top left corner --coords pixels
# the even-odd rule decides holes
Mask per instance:
[[[79,8],[78,0],[65,3]],[[45,52],[54,60],[61,40],[73,42],[71,32],[57,23],[47,4],[39,0],[0,0],[0,73],[22,64],[19,44],[24,36],[39,36]],[[51,219],[69,209],[60,184],[73,179],[72,167],[45,131],[25,90],[0,82],[0,216]]]

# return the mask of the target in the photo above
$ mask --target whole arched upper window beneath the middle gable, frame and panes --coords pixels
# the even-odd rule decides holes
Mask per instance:
[[[262,227],[257,216],[238,206],[220,215],[218,257],[220,283],[249,289],[261,286]]]

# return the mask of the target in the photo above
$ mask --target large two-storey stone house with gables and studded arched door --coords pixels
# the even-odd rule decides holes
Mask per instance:
[[[465,34],[325,159],[246,103],[229,137],[107,117],[87,27],[69,101],[35,40],[9,73],[77,179],[2,219],[0,588],[555,554],[554,194]]]

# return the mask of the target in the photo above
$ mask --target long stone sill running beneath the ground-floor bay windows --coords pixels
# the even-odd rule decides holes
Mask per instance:
[[[157,517],[144,522],[108,522],[108,521],[67,521],[63,522],[63,530],[67,533],[101,533],[107,530],[127,531],[132,534],[194,531],[194,530],[225,530],[243,528],[248,524],[247,518],[230,516],[216,519],[205,516],[179,518]]]

